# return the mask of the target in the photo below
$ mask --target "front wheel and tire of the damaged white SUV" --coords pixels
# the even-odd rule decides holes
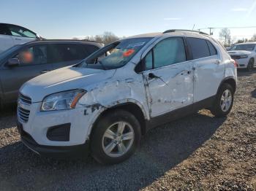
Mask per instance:
[[[124,131],[120,136],[121,131],[118,130],[121,127],[124,127]],[[121,109],[101,117],[91,133],[91,155],[102,164],[116,164],[127,160],[140,144],[140,122],[133,114]]]

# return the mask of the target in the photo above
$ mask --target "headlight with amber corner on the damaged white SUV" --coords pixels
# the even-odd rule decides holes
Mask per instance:
[[[85,90],[69,90],[48,95],[42,101],[41,111],[74,109]]]

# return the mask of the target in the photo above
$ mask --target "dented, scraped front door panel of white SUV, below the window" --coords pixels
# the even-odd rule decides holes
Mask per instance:
[[[153,73],[159,78],[148,77]],[[193,103],[192,63],[184,62],[143,72],[151,117]]]

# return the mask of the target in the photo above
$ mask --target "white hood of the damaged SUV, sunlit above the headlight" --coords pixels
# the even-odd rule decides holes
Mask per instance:
[[[113,77],[116,70],[66,67],[42,74],[20,87],[20,93],[29,96],[32,102],[40,102],[46,95],[65,90],[84,88],[93,83]]]

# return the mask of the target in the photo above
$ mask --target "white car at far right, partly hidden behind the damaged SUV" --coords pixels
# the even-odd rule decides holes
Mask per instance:
[[[256,66],[256,42],[235,44],[228,53],[237,61],[238,69],[252,71]]]

